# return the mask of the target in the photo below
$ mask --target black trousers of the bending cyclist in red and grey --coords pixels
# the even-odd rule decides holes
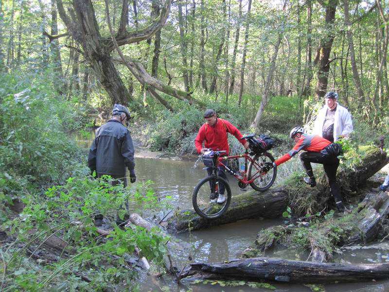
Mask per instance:
[[[334,196],[335,201],[342,201],[340,187],[336,182],[336,171],[339,166],[339,159],[334,155],[323,152],[302,152],[300,154],[300,159],[305,172],[310,178],[314,177],[311,163],[323,164],[327,182],[330,185],[331,193]]]

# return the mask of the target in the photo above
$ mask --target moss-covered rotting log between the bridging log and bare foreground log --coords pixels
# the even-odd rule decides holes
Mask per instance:
[[[369,242],[377,237],[382,222],[388,217],[389,194],[368,193],[350,214],[328,218],[311,226],[272,226],[262,230],[242,257],[264,256],[277,244],[295,249],[311,249],[311,260],[324,262],[340,245]]]

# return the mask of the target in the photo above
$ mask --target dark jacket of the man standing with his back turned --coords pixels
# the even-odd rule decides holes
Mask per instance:
[[[134,170],[134,146],[122,123],[109,120],[96,130],[89,149],[88,166],[100,174],[125,176],[125,167]]]

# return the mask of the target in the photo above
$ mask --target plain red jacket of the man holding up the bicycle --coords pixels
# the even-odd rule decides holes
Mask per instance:
[[[241,139],[243,135],[235,126],[233,126],[229,121],[217,119],[216,124],[213,126],[204,123],[199,128],[195,138],[197,153],[200,153],[202,148],[212,148],[212,150],[227,150],[227,153],[229,153],[227,132],[234,135],[242,145],[245,145],[246,140]]]

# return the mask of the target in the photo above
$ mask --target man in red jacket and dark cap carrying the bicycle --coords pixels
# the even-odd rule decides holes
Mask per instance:
[[[197,153],[204,154],[208,148],[212,150],[226,150],[226,155],[229,153],[228,146],[228,134],[231,133],[235,136],[236,139],[248,149],[248,142],[242,138],[240,131],[233,126],[229,121],[217,118],[216,112],[212,109],[205,110],[204,112],[205,123],[199,128],[197,136],[195,138],[195,146]],[[204,147],[203,147],[204,143]],[[207,168],[208,175],[212,175],[212,169]],[[227,179],[226,174],[224,173],[224,168],[219,167],[219,176]],[[224,185],[220,185],[219,197],[217,199],[212,199],[211,202],[224,203],[226,198],[224,197]]]

